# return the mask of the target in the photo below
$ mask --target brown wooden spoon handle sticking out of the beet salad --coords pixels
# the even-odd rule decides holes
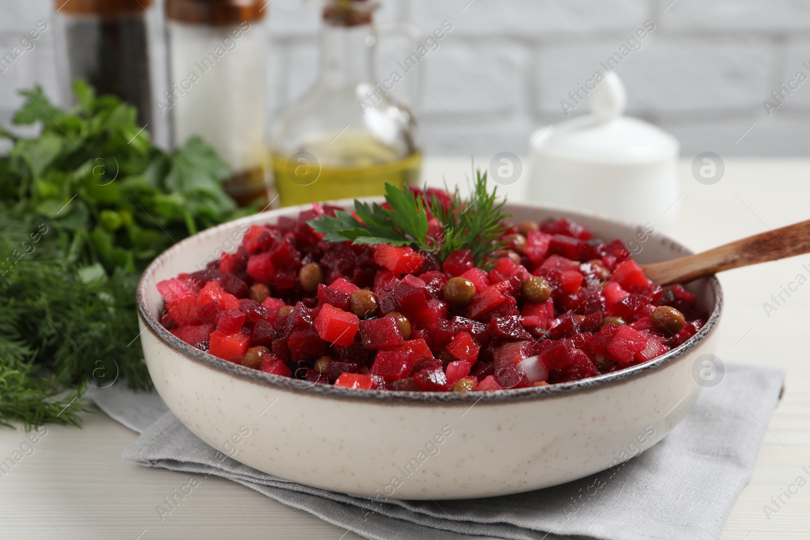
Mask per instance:
[[[654,283],[671,285],[686,283],[723,270],[804,253],[810,253],[810,219],[771,232],[748,236],[703,253],[642,265],[642,269]]]

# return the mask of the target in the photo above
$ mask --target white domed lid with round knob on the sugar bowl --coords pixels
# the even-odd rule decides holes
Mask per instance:
[[[646,121],[624,116],[627,91],[615,72],[605,76],[587,100],[590,114],[535,131],[531,150],[596,164],[648,164],[678,155],[678,139]]]

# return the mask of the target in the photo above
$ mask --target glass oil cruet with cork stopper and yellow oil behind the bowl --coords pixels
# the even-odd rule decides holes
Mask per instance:
[[[366,0],[327,0],[324,6],[318,79],[273,130],[273,172],[283,206],[382,195],[386,182],[402,187],[419,181],[413,114],[374,74],[380,35],[371,27],[375,7]]]

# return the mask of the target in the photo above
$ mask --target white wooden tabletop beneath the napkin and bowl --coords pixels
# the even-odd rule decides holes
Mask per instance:
[[[487,164],[488,160],[477,160]],[[810,217],[810,159],[727,159],[716,185],[701,185],[681,164],[683,212],[667,232],[692,249],[708,249]],[[424,176],[448,184],[469,175],[469,159],[429,159]],[[511,186],[526,198],[524,180]],[[728,518],[724,540],[810,538],[810,486],[770,516],[782,488],[803,476],[810,483],[810,284],[777,311],[763,303],[787,286],[810,255],[722,274],[726,310],[718,356],[726,361],[787,369],[782,402],[765,435],[751,482]],[[786,296],[787,298],[787,296]],[[0,538],[359,538],[306,512],[288,508],[236,483],[208,477],[164,521],[156,505],[189,474],[147,469],[121,459],[137,434],[103,413],[83,415],[83,427],[48,426],[48,434],[0,478]],[[25,440],[21,429],[0,429],[0,461]],[[712,486],[706,486],[711,490]],[[794,489],[795,491],[795,489]],[[699,517],[696,517],[699,519]]]

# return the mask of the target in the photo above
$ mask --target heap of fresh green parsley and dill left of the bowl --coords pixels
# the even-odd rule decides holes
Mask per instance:
[[[75,83],[63,110],[23,91],[0,157],[0,423],[77,423],[85,385],[151,385],[134,289],[147,264],[200,229],[253,211],[222,189],[227,164],[199,139],[168,153],[135,109]]]

